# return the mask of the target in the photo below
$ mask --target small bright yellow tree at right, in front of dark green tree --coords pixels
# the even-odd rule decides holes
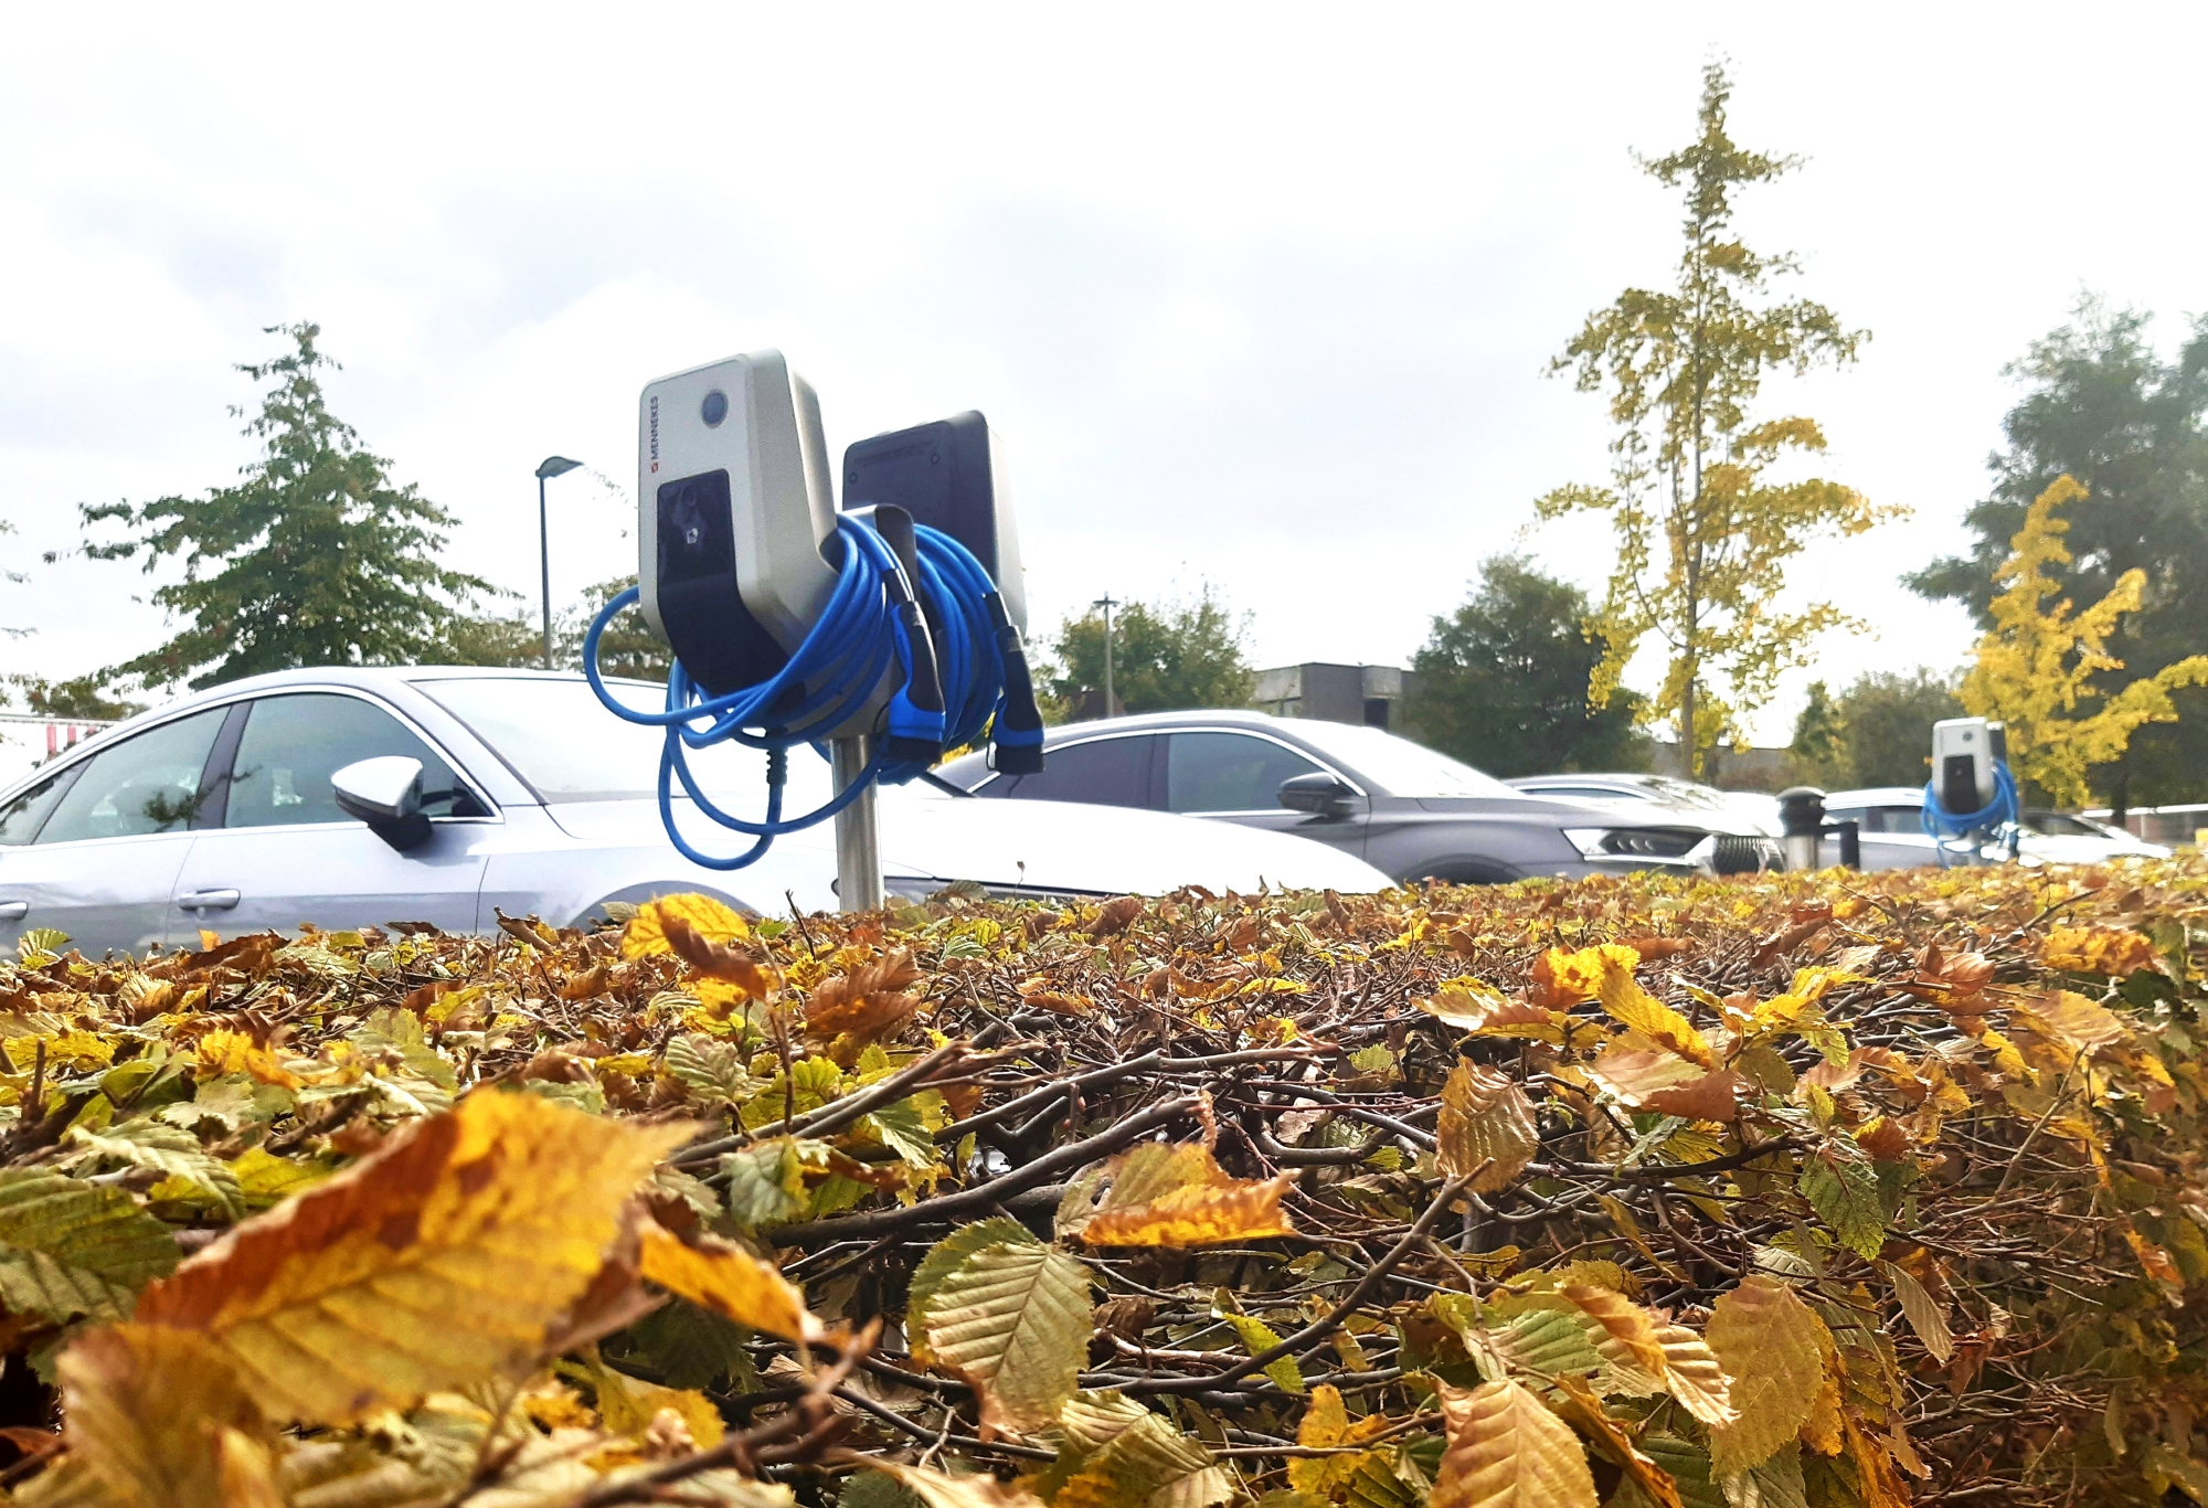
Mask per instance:
[[[1976,665],[1956,693],[1972,715],[2009,724],[2009,764],[2064,806],[2087,801],[2087,773],[2122,757],[2137,726],[2177,720],[2170,691],[2208,684],[2208,654],[2122,687],[2104,680],[2124,669],[2109,654],[2109,636],[2124,614],[2140,609],[2146,572],[2124,572],[2109,596],[2071,614],[2056,578],[2056,567],[2071,563],[2062,543],[2069,521],[2056,508],[2084,495],[2084,486],[2062,475],[2034,499],[2025,528],[2009,541],[2009,559],[1994,572],[1994,585],[2003,587],[1992,603],[1994,631],[1978,640]],[[2051,596],[2058,601],[2049,607]]]

